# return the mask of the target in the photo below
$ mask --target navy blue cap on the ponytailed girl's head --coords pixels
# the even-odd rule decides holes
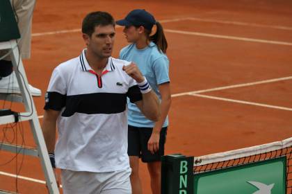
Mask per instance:
[[[145,10],[132,10],[124,18],[116,21],[120,26],[144,26],[144,28],[151,30],[156,23],[153,15]]]

